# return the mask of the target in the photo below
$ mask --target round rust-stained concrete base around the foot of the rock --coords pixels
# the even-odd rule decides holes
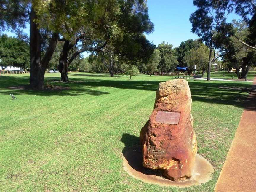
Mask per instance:
[[[180,188],[206,183],[212,179],[212,173],[214,172],[214,169],[209,161],[196,154],[196,161],[192,177],[189,180],[184,181],[171,181],[165,178],[159,170],[152,170],[143,167],[142,151],[140,147],[131,148],[124,153],[123,167],[129,175],[145,183]]]

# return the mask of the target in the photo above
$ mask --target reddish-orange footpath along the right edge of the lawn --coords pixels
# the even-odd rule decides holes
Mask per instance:
[[[256,77],[215,191],[256,192]]]

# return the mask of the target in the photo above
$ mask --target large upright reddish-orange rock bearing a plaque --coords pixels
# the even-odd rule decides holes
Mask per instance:
[[[143,166],[161,169],[174,181],[191,178],[194,169],[197,143],[191,103],[186,80],[160,83],[154,110],[140,131]]]

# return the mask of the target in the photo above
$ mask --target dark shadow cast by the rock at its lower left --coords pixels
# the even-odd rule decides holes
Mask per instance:
[[[123,148],[124,158],[127,160],[128,164],[132,169],[141,172],[145,175],[156,175],[162,176],[161,170],[148,169],[142,164],[142,150],[139,145],[140,138],[129,133],[123,133],[121,142],[124,143],[125,147]]]

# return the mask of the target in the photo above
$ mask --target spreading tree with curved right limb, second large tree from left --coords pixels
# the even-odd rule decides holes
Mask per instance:
[[[129,39],[133,42],[139,34],[153,31],[146,1],[99,0],[90,8],[92,14],[88,15],[89,25],[82,27],[70,40],[61,39],[65,41],[59,60],[62,81],[68,81],[68,65],[84,51],[105,52],[104,58],[106,59],[106,55],[109,57],[105,63],[108,63],[108,69],[113,76],[114,58],[128,55],[124,51],[124,47],[128,45],[126,41]],[[107,44],[110,45],[106,46]],[[78,51],[67,60],[69,50],[76,46],[79,47]]]

